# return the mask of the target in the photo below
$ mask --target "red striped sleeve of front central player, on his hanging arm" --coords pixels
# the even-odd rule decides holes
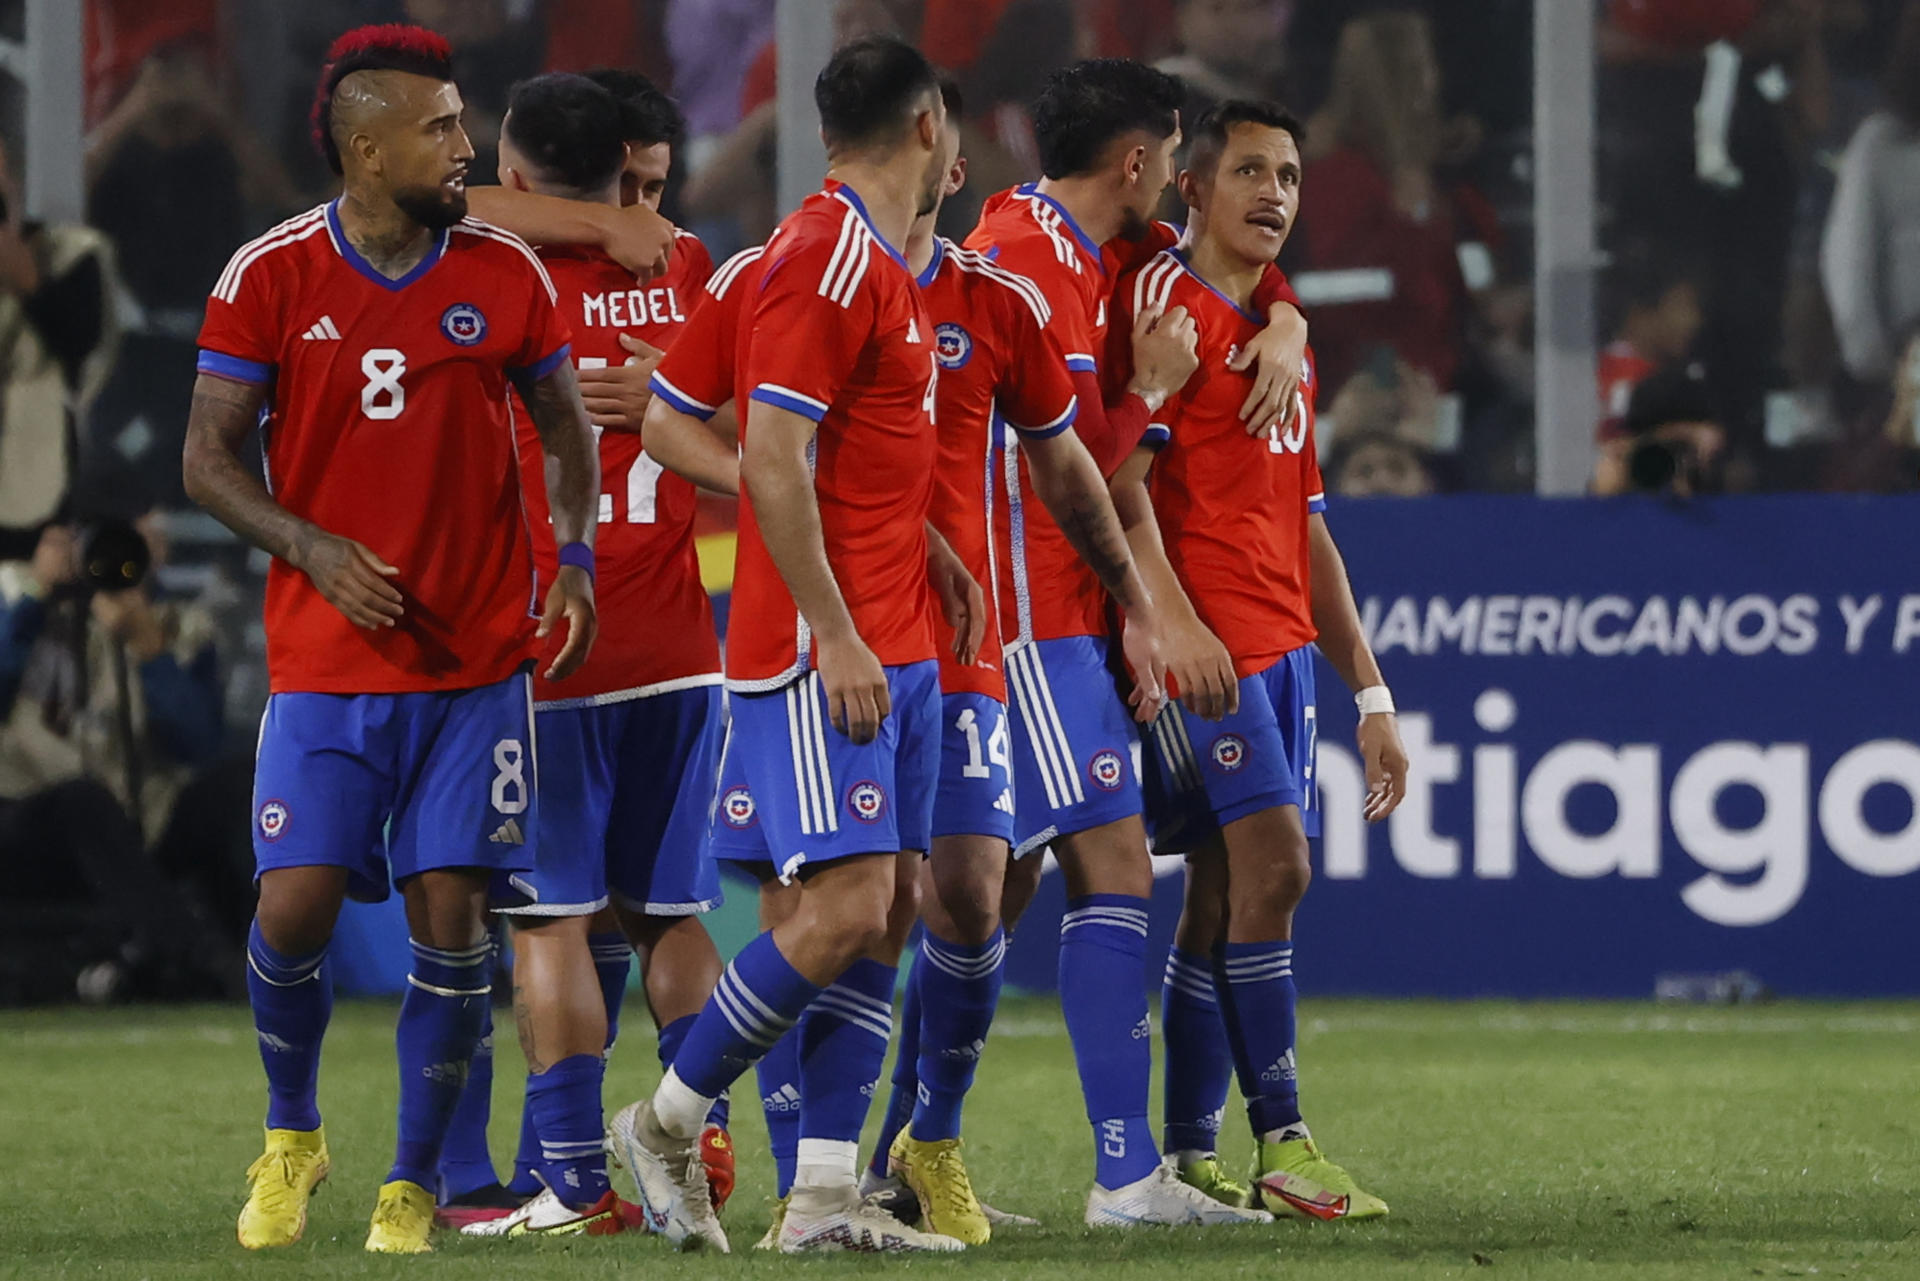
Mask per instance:
[[[814,240],[774,263],[751,300],[741,386],[749,399],[818,423],[839,396],[874,332],[870,263]],[[874,254],[872,257],[879,257]]]

